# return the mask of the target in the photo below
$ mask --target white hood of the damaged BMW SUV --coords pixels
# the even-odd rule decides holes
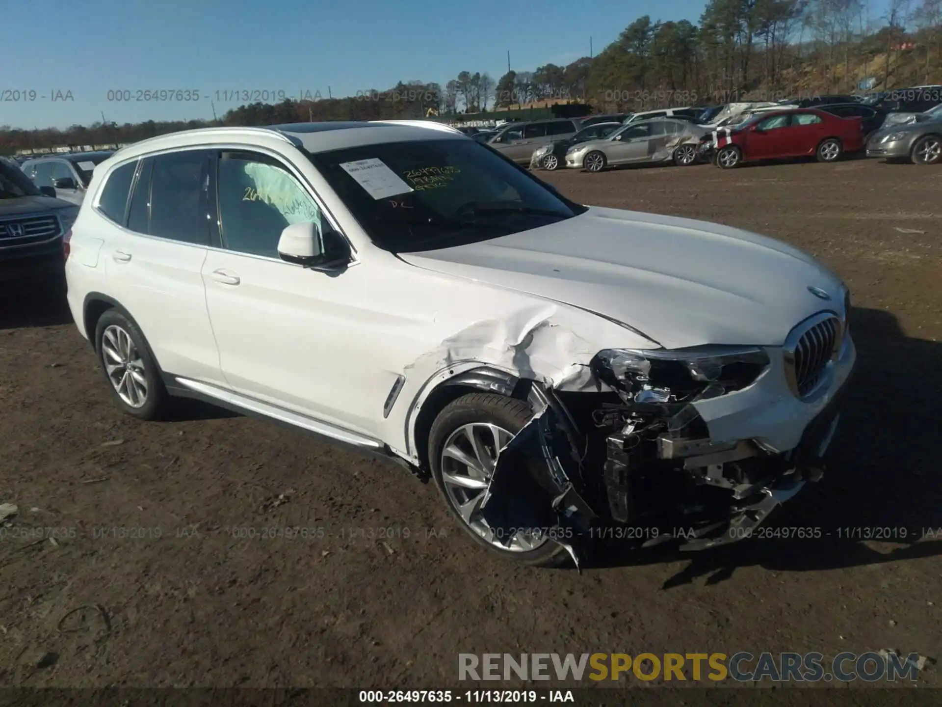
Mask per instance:
[[[842,306],[840,280],[809,255],[748,231],[591,207],[575,219],[406,262],[572,304],[670,349],[778,346],[791,328]],[[831,295],[822,301],[808,288]]]

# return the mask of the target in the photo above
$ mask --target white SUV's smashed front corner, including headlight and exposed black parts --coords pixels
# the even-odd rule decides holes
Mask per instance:
[[[712,439],[697,411],[768,374],[762,348],[607,350],[589,368],[593,392],[533,384],[534,417],[500,453],[481,505],[492,528],[561,529],[551,537],[577,563],[604,537],[698,550],[748,537],[822,475],[834,401],[788,452]]]

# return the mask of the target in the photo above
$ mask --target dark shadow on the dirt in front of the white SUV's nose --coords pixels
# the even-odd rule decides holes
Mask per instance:
[[[942,343],[907,337],[889,312],[854,309],[857,365],[820,483],[779,508],[768,528],[820,528],[819,538],[763,538],[698,552],[601,551],[593,567],[690,564],[665,588],[737,567],[814,571],[942,554],[942,478],[937,473]],[[857,530],[859,529],[859,530]],[[790,533],[791,531],[788,531]],[[916,542],[922,538],[922,542]],[[866,540],[892,543],[877,551]]]

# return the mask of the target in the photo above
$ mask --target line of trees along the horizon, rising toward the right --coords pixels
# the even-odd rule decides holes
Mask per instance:
[[[942,0],[707,0],[694,24],[636,19],[597,56],[533,71],[463,71],[442,86],[311,101],[253,103],[218,121],[92,123],[65,130],[0,126],[0,148],[135,142],[192,127],[453,116],[543,101],[603,111],[850,92],[942,82]]]

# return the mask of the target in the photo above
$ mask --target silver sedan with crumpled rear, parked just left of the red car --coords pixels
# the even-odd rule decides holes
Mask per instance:
[[[666,118],[630,123],[605,140],[571,147],[566,167],[601,172],[606,167],[642,162],[688,166],[696,162],[697,144],[705,133],[700,125]]]

